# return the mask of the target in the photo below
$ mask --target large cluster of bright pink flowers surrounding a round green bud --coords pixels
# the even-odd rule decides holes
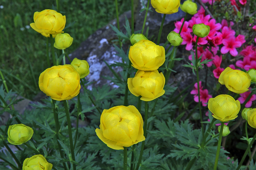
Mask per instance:
[[[211,3],[212,1],[206,0],[206,2]],[[184,18],[175,23],[175,32],[179,32],[183,21]],[[195,14],[191,20],[185,21],[180,33],[181,37],[183,38],[182,45],[186,45],[186,50],[188,51],[195,51],[197,36],[193,34],[192,27],[194,24],[200,23],[209,25],[210,32],[208,36],[198,38],[198,58],[202,56],[201,62],[206,59],[213,59],[212,61],[209,61],[206,66],[211,67],[214,65],[216,67],[216,69],[213,70],[213,74],[214,77],[218,79],[221,72],[224,70],[224,68],[220,67],[222,61],[221,54],[227,54],[229,52],[232,56],[237,56],[237,48],[241,47],[246,41],[244,40],[243,35],[239,34],[238,36],[235,36],[236,32],[231,28],[231,26],[234,25],[233,22],[228,23],[227,20],[223,19],[221,24],[216,23],[216,20],[211,18],[210,15],[205,15],[205,10],[201,6],[200,10],[198,10],[197,14]],[[219,50],[220,54],[218,54]],[[189,60],[192,60],[192,55],[190,55],[188,58]]]

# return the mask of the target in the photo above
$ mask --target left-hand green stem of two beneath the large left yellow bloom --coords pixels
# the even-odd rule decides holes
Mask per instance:
[[[58,141],[59,140],[59,130],[60,130],[59,117],[58,117],[58,113],[55,108],[55,100],[51,99],[51,101],[52,101],[53,116],[54,116],[54,121],[55,121],[55,133],[56,133],[55,136],[56,136],[56,140],[57,140],[57,145],[58,145],[60,157],[64,158],[63,152],[61,150],[60,142]],[[63,164],[64,169],[67,170],[66,163],[63,162],[62,164]]]

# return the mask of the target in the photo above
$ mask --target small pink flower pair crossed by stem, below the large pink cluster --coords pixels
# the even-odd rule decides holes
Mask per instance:
[[[199,93],[200,93],[200,101],[202,102],[202,106],[207,106],[208,100],[212,98],[212,95],[208,94],[208,90],[204,89],[202,86],[202,82],[199,81]],[[190,92],[190,94],[194,95],[194,101],[199,102],[198,99],[198,88],[197,88],[197,83],[194,85],[194,89]]]

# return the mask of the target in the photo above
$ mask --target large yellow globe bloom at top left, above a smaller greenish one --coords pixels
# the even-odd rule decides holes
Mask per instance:
[[[59,34],[62,33],[66,24],[66,16],[62,16],[55,10],[45,9],[34,13],[34,23],[30,27],[39,33]]]

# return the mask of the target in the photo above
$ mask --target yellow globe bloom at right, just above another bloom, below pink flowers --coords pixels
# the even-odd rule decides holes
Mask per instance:
[[[240,94],[248,91],[251,85],[251,77],[241,70],[233,70],[227,67],[219,77],[220,84],[225,84],[228,90]]]

